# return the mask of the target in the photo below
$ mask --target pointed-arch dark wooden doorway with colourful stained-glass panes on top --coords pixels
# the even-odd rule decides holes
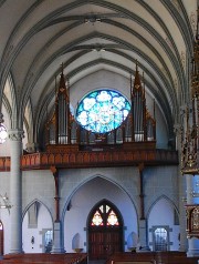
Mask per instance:
[[[123,251],[123,221],[121,213],[104,200],[88,216],[90,260],[106,260],[114,252]]]

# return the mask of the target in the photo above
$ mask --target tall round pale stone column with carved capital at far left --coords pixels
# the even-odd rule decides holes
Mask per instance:
[[[22,153],[23,131],[11,130],[11,170],[10,170],[10,253],[22,253]]]

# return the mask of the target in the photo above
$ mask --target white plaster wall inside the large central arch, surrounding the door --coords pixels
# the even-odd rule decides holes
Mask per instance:
[[[102,177],[95,177],[81,186],[71,199],[71,209],[64,219],[65,250],[72,252],[72,240],[80,233],[83,244],[81,248],[87,251],[86,227],[91,210],[103,199],[111,201],[123,215],[124,241],[132,232],[137,233],[137,215],[129,196],[118,186]],[[126,247],[125,247],[126,250]]]

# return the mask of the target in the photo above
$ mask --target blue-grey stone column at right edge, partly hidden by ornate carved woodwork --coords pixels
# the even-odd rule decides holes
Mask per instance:
[[[187,175],[187,204],[196,204],[198,197],[193,197],[195,176]],[[196,237],[188,238],[187,256],[199,256],[199,240]]]

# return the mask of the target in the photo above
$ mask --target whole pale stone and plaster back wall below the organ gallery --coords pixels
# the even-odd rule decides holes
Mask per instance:
[[[0,172],[0,193],[9,193],[9,172]],[[180,176],[180,175],[179,175]],[[140,200],[139,200],[139,172],[137,166],[128,167],[94,167],[94,169],[67,169],[60,171],[60,215],[63,223],[64,246],[66,252],[72,252],[72,240],[76,233],[81,236],[84,252],[87,251],[86,221],[92,207],[103,199],[107,199],[119,210],[123,220],[125,237],[138,233]],[[50,170],[25,171],[22,176],[22,204],[23,212],[34,202],[39,201],[44,206],[39,211],[39,226],[36,230],[28,230],[28,216],[23,219],[23,248],[25,252],[42,252],[40,232],[52,227],[55,216],[55,186]],[[178,167],[151,166],[144,170],[145,213],[149,217],[149,227],[153,225],[168,224],[174,230],[170,236],[176,250],[178,246],[178,227],[171,223],[172,207],[166,202],[156,203],[164,195],[169,197],[171,204],[178,207]],[[70,211],[66,210],[71,202]],[[158,205],[160,204],[160,205]],[[155,205],[155,206],[154,206]],[[153,210],[151,210],[151,206]],[[156,207],[157,206],[157,207]],[[161,211],[163,210],[163,213]],[[159,213],[165,217],[159,217]],[[168,221],[166,221],[168,217]],[[1,221],[4,226],[4,248],[9,253],[10,215],[1,210]],[[32,248],[30,240],[35,236],[35,245]],[[125,250],[128,251],[127,245]]]

